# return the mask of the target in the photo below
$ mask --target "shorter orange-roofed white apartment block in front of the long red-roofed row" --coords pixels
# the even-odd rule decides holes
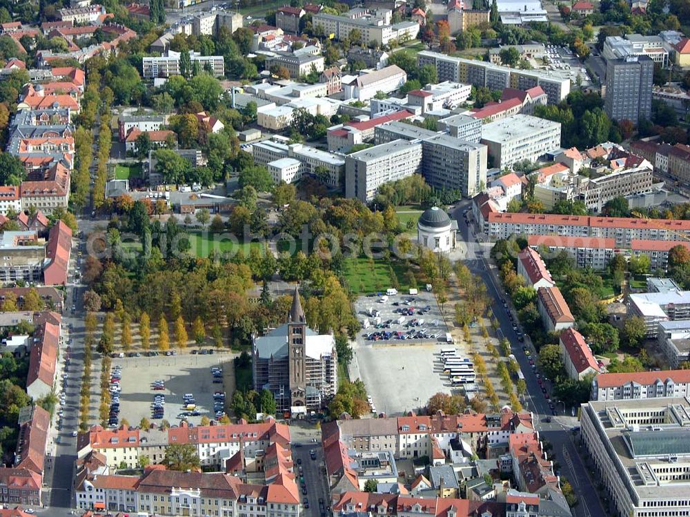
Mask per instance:
[[[615,240],[600,237],[562,237],[560,235],[528,235],[531,248],[549,253],[552,257],[565,251],[578,268],[604,271],[615,252]]]

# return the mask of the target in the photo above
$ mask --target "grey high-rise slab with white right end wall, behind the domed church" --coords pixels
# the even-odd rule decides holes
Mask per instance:
[[[422,140],[422,174],[434,188],[473,197],[486,186],[486,146],[451,135],[426,138]]]

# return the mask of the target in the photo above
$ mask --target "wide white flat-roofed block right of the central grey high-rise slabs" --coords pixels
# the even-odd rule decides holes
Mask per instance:
[[[510,167],[524,159],[536,162],[560,147],[560,136],[560,122],[531,115],[513,115],[482,127],[482,144],[489,147],[497,168]]]

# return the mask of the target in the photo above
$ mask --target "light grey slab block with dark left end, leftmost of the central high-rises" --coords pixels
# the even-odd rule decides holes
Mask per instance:
[[[398,139],[345,157],[345,196],[366,203],[384,183],[420,173],[422,144]]]

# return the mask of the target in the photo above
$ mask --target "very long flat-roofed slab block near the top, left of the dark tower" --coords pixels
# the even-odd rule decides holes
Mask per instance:
[[[535,86],[541,86],[548,96],[549,104],[558,104],[570,93],[570,79],[551,75],[542,70],[508,68],[486,61],[452,57],[428,50],[422,50],[417,55],[417,64],[420,67],[435,66],[439,81],[486,86],[491,90],[517,88],[526,91]]]

